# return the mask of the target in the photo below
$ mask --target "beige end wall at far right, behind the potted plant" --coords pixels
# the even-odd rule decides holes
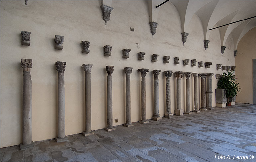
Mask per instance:
[[[241,88],[241,93],[238,92],[236,97],[238,103],[253,103],[252,59],[255,59],[255,53],[255,28],[253,28],[243,36],[237,46],[235,74]]]

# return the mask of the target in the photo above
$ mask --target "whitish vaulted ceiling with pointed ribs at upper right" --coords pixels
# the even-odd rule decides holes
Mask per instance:
[[[157,7],[164,0],[151,0],[148,2],[150,22],[157,22],[158,12],[161,6]],[[204,40],[209,40],[212,28],[226,25],[235,21],[247,19],[255,16],[255,0],[248,1],[225,1],[225,0],[169,0],[166,3],[174,5],[179,12],[182,33],[188,33],[189,22],[192,16],[197,15],[203,25]],[[103,1],[103,4],[110,5],[112,1]],[[230,34],[233,36],[234,50],[236,50],[240,39],[250,29],[255,27],[255,18],[243,20],[227,26],[219,27],[221,46],[225,46]],[[189,36],[188,36],[189,37]],[[210,40],[209,40],[210,41]]]

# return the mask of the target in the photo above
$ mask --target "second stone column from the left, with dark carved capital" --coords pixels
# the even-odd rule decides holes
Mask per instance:
[[[67,141],[65,135],[65,80],[64,71],[66,62],[55,62],[56,70],[58,71],[58,137],[55,138],[56,142]]]

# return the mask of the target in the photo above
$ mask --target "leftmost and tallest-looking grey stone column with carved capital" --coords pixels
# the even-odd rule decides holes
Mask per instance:
[[[33,147],[32,142],[32,81],[30,68],[32,68],[32,59],[21,59],[23,68],[23,129],[22,143],[20,149]]]

